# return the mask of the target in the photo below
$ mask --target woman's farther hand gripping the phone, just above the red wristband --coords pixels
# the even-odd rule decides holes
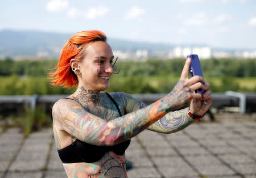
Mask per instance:
[[[204,86],[206,91],[202,95],[202,98],[193,98],[189,107],[190,111],[197,116],[203,116],[210,108],[210,105],[212,105],[212,91],[208,90],[210,83],[205,82]]]

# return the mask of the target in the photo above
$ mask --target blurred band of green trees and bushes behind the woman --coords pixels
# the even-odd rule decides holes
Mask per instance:
[[[111,91],[127,93],[167,93],[177,83],[184,59],[143,62],[118,61],[118,75],[110,80]],[[0,60],[0,95],[60,95],[71,94],[76,87],[68,89],[51,86],[48,73],[57,60]],[[256,88],[255,59],[210,59],[201,60],[205,80],[210,82],[212,92],[250,91]],[[241,80],[240,80],[241,78]],[[248,79],[248,82],[243,80]]]

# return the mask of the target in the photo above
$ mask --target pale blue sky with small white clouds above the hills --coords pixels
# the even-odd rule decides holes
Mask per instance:
[[[0,30],[76,33],[150,43],[256,49],[256,0],[1,0]]]

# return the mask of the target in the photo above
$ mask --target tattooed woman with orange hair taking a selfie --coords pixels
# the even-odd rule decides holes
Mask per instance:
[[[68,177],[127,177],[125,150],[131,137],[144,129],[177,132],[210,107],[209,83],[187,77],[190,58],[174,89],[148,106],[122,92],[101,92],[109,88],[113,60],[103,32],[83,31],[64,45],[51,74],[53,85],[77,86],[52,108],[56,147]],[[197,89],[206,92],[196,94]],[[176,111],[188,101],[190,109]]]

